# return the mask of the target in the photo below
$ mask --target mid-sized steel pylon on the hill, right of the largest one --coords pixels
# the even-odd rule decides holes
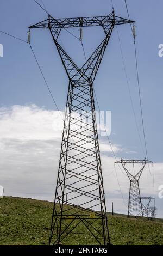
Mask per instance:
[[[121,163],[129,180],[130,180],[130,190],[129,190],[129,199],[128,199],[128,214],[127,217],[142,217],[143,218],[143,208],[140,197],[140,187],[139,187],[139,179],[143,172],[143,169],[146,166],[146,163],[153,163],[147,159],[144,160],[123,160],[117,161],[115,163]],[[141,163],[142,168],[136,174],[131,174],[129,170],[127,170],[126,163]]]

